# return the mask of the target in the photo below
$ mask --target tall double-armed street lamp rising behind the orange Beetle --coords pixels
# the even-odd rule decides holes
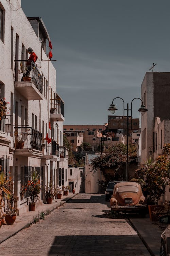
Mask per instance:
[[[127,138],[126,138],[126,180],[128,181],[128,176],[129,176],[129,117],[131,117],[131,130],[132,130],[132,102],[135,99],[139,99],[142,102],[142,105],[138,109],[139,112],[143,115],[148,109],[146,109],[145,105],[143,105],[143,101],[140,98],[134,98],[131,101],[131,109],[129,109],[129,104],[127,103],[127,108],[124,108],[124,100],[120,97],[116,97],[113,99],[112,104],[108,108],[109,111],[111,111],[112,114],[115,114],[115,111],[117,110],[116,106],[113,104],[115,99],[121,99],[123,101],[123,132],[124,132],[124,111],[126,110],[127,113]],[[131,111],[131,116],[129,116],[129,111]]]

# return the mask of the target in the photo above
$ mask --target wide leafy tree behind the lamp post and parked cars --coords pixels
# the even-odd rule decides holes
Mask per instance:
[[[129,163],[136,159],[136,146],[129,145]],[[125,177],[126,145],[115,144],[91,160],[94,172],[99,168],[106,180],[121,179]]]

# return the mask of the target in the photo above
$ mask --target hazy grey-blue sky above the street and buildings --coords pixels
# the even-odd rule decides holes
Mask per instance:
[[[169,0],[21,0],[21,7],[50,35],[64,125],[107,123],[115,97],[125,108],[141,98],[153,63],[155,72],[170,71]],[[114,104],[123,115],[123,102]],[[133,118],[140,105],[133,101]]]

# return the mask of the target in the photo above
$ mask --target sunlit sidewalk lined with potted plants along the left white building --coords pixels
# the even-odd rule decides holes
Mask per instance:
[[[16,217],[16,220],[13,225],[2,225],[0,228],[0,243],[6,239],[12,237],[20,230],[22,230],[28,223],[33,223],[33,218],[40,212],[45,212],[48,209],[49,212],[54,209],[64,205],[67,201],[73,198],[77,194],[68,193],[68,196],[62,196],[62,199],[54,199],[52,204],[43,204],[38,206],[33,212],[25,212],[22,215]]]

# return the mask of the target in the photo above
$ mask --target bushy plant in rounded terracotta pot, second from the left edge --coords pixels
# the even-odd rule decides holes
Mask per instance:
[[[16,220],[16,216],[18,214],[18,208],[13,207],[13,205],[15,205],[16,201],[19,200],[19,198],[13,193],[11,195],[6,194],[5,198],[7,200],[5,221],[7,225],[12,225]]]

